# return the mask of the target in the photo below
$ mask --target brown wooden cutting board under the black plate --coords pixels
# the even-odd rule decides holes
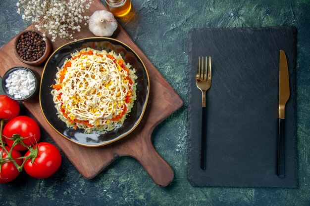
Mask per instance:
[[[103,9],[106,10],[100,0],[94,0],[86,15],[90,16],[94,11]],[[30,25],[26,29],[33,28],[34,26]],[[81,32],[76,33],[74,36],[75,39],[87,37],[94,37],[94,35],[89,31],[88,26],[84,25]],[[157,124],[182,106],[182,99],[120,25],[118,25],[111,38],[123,41],[135,50],[144,61],[150,75],[150,97],[146,112],[139,126],[128,136],[103,147],[89,148],[79,146],[60,136],[52,129],[40,109],[39,98],[23,101],[22,103],[85,178],[94,178],[118,157],[130,156],[135,158],[146,169],[156,184],[166,186],[173,180],[174,172],[171,166],[155,151],[151,136]],[[2,77],[9,68],[14,66],[25,66],[42,75],[44,65],[37,67],[29,66],[16,58],[13,50],[14,39],[0,48],[0,76]],[[56,39],[52,43],[53,50],[67,42],[64,39]]]

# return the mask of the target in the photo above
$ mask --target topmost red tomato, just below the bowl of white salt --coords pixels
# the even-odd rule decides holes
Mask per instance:
[[[17,101],[6,95],[0,95],[0,119],[10,121],[19,114],[19,104]]]

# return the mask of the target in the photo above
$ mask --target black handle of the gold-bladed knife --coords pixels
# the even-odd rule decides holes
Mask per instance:
[[[284,177],[284,124],[285,119],[279,118],[278,135],[278,176]]]

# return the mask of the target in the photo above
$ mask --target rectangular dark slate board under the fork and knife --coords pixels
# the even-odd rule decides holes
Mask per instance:
[[[287,56],[285,177],[277,176],[279,50]],[[198,56],[211,56],[207,167],[200,168]],[[189,34],[188,180],[193,186],[298,187],[296,28],[197,29]]]

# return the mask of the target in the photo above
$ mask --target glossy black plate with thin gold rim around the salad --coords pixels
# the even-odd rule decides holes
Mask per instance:
[[[126,63],[131,64],[136,69],[137,82],[137,99],[134,106],[126,117],[122,126],[112,131],[101,133],[94,131],[93,133],[85,133],[84,129],[74,129],[67,127],[57,117],[57,110],[52,100],[52,87],[55,83],[57,67],[61,68],[66,58],[70,58],[70,54],[83,48],[93,48],[97,50],[113,50],[116,54],[120,54]],[[99,147],[112,143],[129,134],[141,121],[147,106],[150,91],[150,79],[148,71],[141,58],[129,46],[121,41],[111,38],[87,38],[67,43],[56,51],[54,51],[47,61],[41,79],[40,87],[40,105],[42,112],[49,124],[63,137],[83,146]]]

